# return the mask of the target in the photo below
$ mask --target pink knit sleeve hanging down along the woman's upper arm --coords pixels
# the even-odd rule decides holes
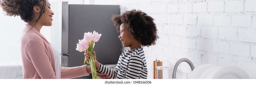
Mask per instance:
[[[33,63],[41,79],[57,79],[44,46],[38,40],[29,40],[25,47],[27,58]]]

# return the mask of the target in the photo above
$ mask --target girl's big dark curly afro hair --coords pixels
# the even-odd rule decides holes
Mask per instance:
[[[156,44],[157,27],[153,18],[146,13],[135,9],[126,11],[122,15],[113,15],[112,20],[116,26],[117,32],[120,31],[120,25],[124,23],[135,39],[141,42],[142,46],[151,46]]]

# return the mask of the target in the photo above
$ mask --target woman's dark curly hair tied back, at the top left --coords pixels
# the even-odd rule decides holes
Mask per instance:
[[[43,3],[42,3],[43,2]],[[1,0],[0,3],[2,9],[5,11],[5,15],[20,16],[21,20],[28,22],[33,20],[33,7],[41,7],[41,12],[38,19],[45,12],[46,1],[45,0]],[[38,21],[36,20],[36,22]]]

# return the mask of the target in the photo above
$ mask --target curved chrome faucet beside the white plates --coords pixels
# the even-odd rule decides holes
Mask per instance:
[[[178,68],[178,65],[181,63],[181,62],[187,62],[191,68],[191,71],[193,71],[195,69],[194,67],[194,64],[187,58],[181,58],[179,59],[173,66],[173,69],[172,69],[172,78],[173,79],[176,79],[176,71],[177,71],[177,68]]]

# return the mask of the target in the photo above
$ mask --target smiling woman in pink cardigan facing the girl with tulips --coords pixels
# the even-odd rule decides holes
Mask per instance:
[[[54,53],[50,43],[40,33],[42,26],[52,25],[52,16],[48,0],[1,0],[5,15],[20,16],[27,22],[20,39],[23,79],[57,79]],[[58,68],[58,67],[56,67]],[[62,79],[88,76],[90,66],[60,67]],[[104,74],[98,74],[101,78]]]

